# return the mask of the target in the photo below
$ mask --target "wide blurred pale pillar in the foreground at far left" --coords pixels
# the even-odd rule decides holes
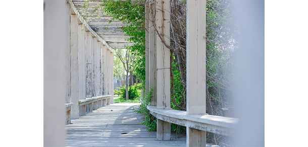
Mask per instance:
[[[65,146],[66,1],[44,1],[44,146]]]

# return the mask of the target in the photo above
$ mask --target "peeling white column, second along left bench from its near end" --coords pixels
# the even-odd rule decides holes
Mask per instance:
[[[92,56],[91,32],[86,31],[85,36],[85,72],[86,72],[86,98],[92,97]]]

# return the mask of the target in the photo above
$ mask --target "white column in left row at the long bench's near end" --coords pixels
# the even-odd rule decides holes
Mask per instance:
[[[78,72],[79,72],[79,100],[86,98],[86,62],[85,62],[85,30],[83,24],[78,24]],[[78,103],[74,105],[79,105]],[[79,116],[85,115],[85,105],[79,106]]]

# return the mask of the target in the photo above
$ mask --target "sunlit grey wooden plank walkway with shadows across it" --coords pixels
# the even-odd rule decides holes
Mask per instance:
[[[66,146],[186,146],[186,136],[175,139],[175,133],[171,141],[158,141],[156,132],[140,124],[144,117],[133,111],[139,105],[111,104],[71,120],[66,125]]]

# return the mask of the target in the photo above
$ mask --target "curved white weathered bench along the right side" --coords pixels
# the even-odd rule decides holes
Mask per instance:
[[[237,118],[215,115],[187,115],[186,111],[157,109],[156,106],[147,106],[147,109],[150,114],[160,120],[226,136],[234,136],[233,130],[238,122]]]

